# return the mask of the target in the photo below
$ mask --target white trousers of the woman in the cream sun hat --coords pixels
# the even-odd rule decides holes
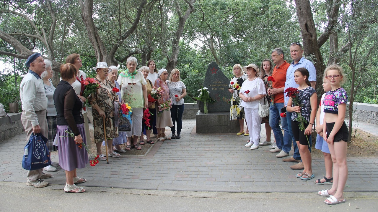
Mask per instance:
[[[258,145],[260,141],[261,120],[258,108],[244,108],[245,121],[248,125],[249,141]]]

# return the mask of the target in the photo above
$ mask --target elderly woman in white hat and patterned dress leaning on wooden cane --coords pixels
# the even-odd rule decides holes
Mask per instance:
[[[108,77],[108,65],[105,62],[98,62],[96,67],[93,67],[97,72],[95,78],[101,85],[101,88],[97,89],[97,92],[90,95],[88,103],[92,105],[93,115],[93,131],[95,135],[95,143],[97,148],[97,155],[99,160],[106,160],[106,156],[101,152],[101,143],[107,137],[108,156],[120,157],[118,153],[113,151],[113,138],[118,137],[118,129],[114,127],[114,101],[119,101],[118,96],[112,91],[112,82],[107,80]],[[112,69],[110,69],[111,71]],[[104,134],[104,121],[105,117],[105,129]]]

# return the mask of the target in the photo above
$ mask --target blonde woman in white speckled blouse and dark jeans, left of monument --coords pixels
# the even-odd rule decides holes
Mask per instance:
[[[180,71],[173,69],[170,72],[169,80],[166,81],[169,88],[169,97],[172,99],[172,108],[170,109],[170,116],[172,117],[173,127],[170,127],[172,131],[172,139],[181,138],[181,129],[183,128],[183,112],[184,112],[184,97],[186,96],[186,87],[180,79]],[[176,126],[177,122],[177,135]]]

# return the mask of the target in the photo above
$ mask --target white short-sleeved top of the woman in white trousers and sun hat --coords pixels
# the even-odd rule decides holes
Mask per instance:
[[[245,93],[246,91],[249,91],[248,94]],[[247,79],[243,82],[242,88],[240,88],[240,93],[242,93],[246,97],[254,97],[257,94],[266,95],[265,84],[259,77],[256,77],[256,79],[252,81],[249,81]],[[257,101],[242,101],[240,106],[242,106],[243,108],[256,109],[259,108],[259,101],[261,104],[264,104],[264,98],[262,98]]]

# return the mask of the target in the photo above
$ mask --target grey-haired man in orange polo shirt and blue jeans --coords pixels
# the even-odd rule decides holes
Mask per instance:
[[[270,152],[279,152],[276,157],[282,158],[289,155],[291,149],[291,135],[287,125],[286,118],[280,117],[281,108],[284,107],[283,89],[285,88],[286,71],[290,64],[284,59],[284,53],[281,48],[273,49],[271,58],[276,64],[273,69],[272,77],[276,80],[273,82],[273,88],[268,89],[268,95],[273,95],[273,102],[270,104],[269,125],[271,126],[277,146]],[[281,120],[282,129],[285,134],[282,135],[279,121]]]

